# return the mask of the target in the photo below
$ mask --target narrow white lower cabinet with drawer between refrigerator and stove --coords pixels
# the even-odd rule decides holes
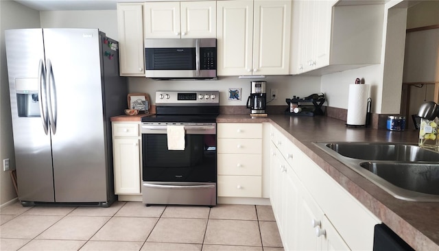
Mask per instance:
[[[141,138],[139,123],[112,122],[115,194],[141,194]]]

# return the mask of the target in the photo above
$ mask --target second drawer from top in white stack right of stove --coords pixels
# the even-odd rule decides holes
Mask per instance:
[[[262,139],[217,139],[218,154],[261,154]]]

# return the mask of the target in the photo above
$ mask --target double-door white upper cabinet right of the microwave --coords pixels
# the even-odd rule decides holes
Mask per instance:
[[[292,1],[217,1],[218,75],[287,75]]]

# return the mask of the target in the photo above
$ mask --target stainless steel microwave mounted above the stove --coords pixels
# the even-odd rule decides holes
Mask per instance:
[[[146,38],[145,77],[216,79],[216,38]]]

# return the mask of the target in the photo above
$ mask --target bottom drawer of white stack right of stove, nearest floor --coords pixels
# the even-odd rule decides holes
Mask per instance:
[[[218,176],[218,196],[261,198],[261,176]]]

